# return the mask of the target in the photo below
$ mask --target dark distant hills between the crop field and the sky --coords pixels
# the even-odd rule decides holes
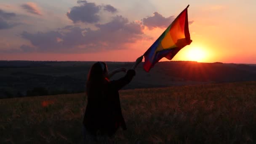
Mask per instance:
[[[12,98],[85,91],[87,75],[93,61],[0,61],[0,98]],[[131,62],[106,62],[109,71]],[[115,75],[112,80],[122,77]],[[124,89],[159,88],[172,85],[223,83],[256,80],[256,66],[246,64],[163,61],[149,73],[142,64],[136,77]]]

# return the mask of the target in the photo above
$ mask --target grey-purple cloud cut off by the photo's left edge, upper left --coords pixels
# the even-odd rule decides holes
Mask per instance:
[[[9,22],[9,20],[15,16],[15,13],[6,13],[0,9],[0,29],[10,29],[16,26],[17,24]]]

